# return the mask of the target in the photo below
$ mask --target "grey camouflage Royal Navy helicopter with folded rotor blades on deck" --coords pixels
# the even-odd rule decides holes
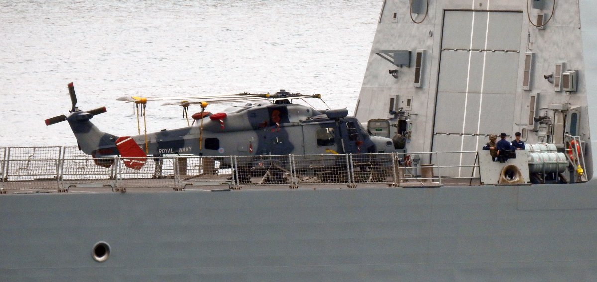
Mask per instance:
[[[45,124],[67,121],[79,149],[103,167],[110,167],[116,155],[121,156],[127,167],[140,170],[148,156],[196,155],[226,163],[227,159],[223,157],[230,155],[260,157],[395,152],[392,139],[371,136],[356,118],[347,115],[346,109],[316,110],[291,103],[296,99],[321,99],[321,95],[304,96],[280,90],[275,94],[240,93],[236,94],[236,99],[229,96],[182,97],[185,100],[164,105],[180,105],[184,111],[190,105],[201,106],[201,112],[192,115],[192,125],[136,136],[116,136],[99,130],[90,121],[94,116],[105,113],[105,107],[81,111],[76,107],[72,82],[68,84],[68,89],[72,104],[70,114],[46,119]],[[144,107],[147,100],[173,99],[181,98],[133,96],[118,100]],[[239,102],[245,105],[232,106],[216,114],[205,111],[210,103]]]

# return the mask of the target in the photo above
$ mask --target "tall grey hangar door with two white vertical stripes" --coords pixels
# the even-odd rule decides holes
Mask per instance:
[[[485,134],[512,134],[522,16],[516,12],[444,12],[433,151],[476,151],[487,143]],[[472,153],[438,158],[436,162],[442,165],[475,162]],[[470,176],[472,167],[447,172]]]

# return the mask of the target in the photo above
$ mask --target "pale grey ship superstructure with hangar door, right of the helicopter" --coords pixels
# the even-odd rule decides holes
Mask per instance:
[[[559,152],[566,134],[584,146],[579,9],[572,0],[384,1],[355,116],[376,119],[372,133],[399,134],[401,149],[411,152],[477,151],[502,132]],[[448,158],[475,163],[474,155]],[[584,171],[590,178],[590,162]]]

